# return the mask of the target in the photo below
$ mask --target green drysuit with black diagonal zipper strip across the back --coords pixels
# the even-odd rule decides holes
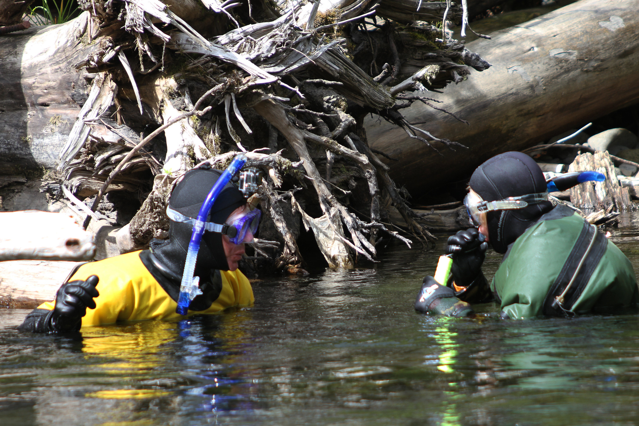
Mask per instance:
[[[571,280],[563,309],[553,308]],[[490,287],[511,318],[610,312],[638,300],[626,255],[565,206],[546,213],[509,246]]]

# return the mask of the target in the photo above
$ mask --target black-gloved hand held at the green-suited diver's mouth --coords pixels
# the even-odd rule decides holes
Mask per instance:
[[[448,239],[446,254],[452,254],[450,273],[455,284],[466,287],[481,273],[488,243],[477,228],[459,231]]]

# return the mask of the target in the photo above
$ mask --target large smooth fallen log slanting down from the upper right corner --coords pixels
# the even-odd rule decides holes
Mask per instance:
[[[403,114],[436,137],[460,142],[452,152],[440,142],[433,153],[390,123],[366,119],[374,149],[399,161],[390,176],[417,197],[433,185],[468,174],[491,156],[532,146],[626,107],[639,99],[639,0],[581,0],[520,26],[493,33],[467,48],[493,64],[471,71],[464,84],[428,95],[470,126],[422,103]],[[450,167],[454,164],[455,167]]]

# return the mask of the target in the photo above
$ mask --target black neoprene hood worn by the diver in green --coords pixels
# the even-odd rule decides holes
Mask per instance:
[[[530,156],[516,151],[486,160],[473,172],[468,185],[484,201],[546,192],[546,179],[539,165]],[[505,253],[509,244],[552,208],[550,201],[542,201],[523,209],[489,211],[488,236],[495,251]]]

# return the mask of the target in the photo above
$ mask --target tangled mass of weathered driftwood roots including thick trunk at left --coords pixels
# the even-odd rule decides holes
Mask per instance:
[[[373,261],[382,235],[410,243],[386,225],[392,212],[413,240],[434,240],[363,123],[379,114],[415,143],[459,146],[402,114],[415,102],[442,110],[426,89],[490,66],[436,27],[444,13],[459,20],[459,4],[79,3],[84,12],[66,24],[0,38],[0,91],[11,105],[10,126],[0,128],[4,174],[55,169],[50,196],[68,190],[93,211],[113,191],[148,200],[126,228],[137,245],[166,238],[168,183],[203,160],[224,168],[227,153],[249,151],[275,224],[261,237],[279,242],[256,254],[275,266],[304,261],[290,215],[318,232],[331,266]]]

